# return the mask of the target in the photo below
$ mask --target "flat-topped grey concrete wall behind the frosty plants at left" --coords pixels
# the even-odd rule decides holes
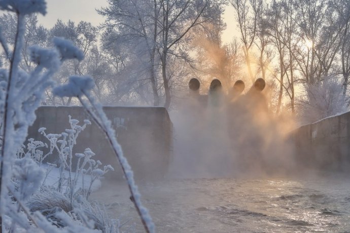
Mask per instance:
[[[168,169],[172,151],[172,123],[163,107],[103,107],[117,132],[124,155],[134,170],[136,179],[148,180],[163,177]],[[42,106],[37,112],[37,120],[29,128],[28,138],[48,142],[38,129],[47,128],[49,133],[61,133],[69,129],[68,115],[80,121],[89,119],[92,125],[79,135],[74,153],[83,153],[89,147],[96,153],[95,160],[102,165],[111,164],[116,172],[107,177],[122,178],[121,168],[111,146],[101,130],[78,106]],[[57,160],[51,156],[48,161]]]

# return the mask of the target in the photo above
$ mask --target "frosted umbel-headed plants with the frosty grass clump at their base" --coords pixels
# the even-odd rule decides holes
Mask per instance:
[[[14,164],[14,174],[24,173],[28,182],[24,184],[29,185],[30,180],[28,178],[40,176],[44,177],[44,170],[46,169],[46,175],[44,181],[41,183],[41,188],[36,191],[38,187],[33,187],[33,191],[27,191],[27,195],[31,196],[19,199],[21,202],[25,202],[25,206],[28,207],[28,212],[39,211],[50,222],[58,227],[67,226],[67,216],[71,217],[78,225],[83,225],[91,229],[99,229],[102,232],[118,232],[118,221],[113,221],[107,217],[106,210],[98,204],[91,204],[87,201],[88,196],[91,193],[91,187],[95,180],[100,179],[108,171],[114,170],[111,165],[103,166],[100,161],[95,161],[92,157],[95,154],[91,149],[86,148],[84,153],[75,153],[78,158],[76,164],[73,162],[73,148],[76,144],[78,135],[83,132],[87,125],[90,125],[90,121],[84,120],[82,126],[79,125],[79,121],[72,119],[69,116],[70,128],[66,129],[60,134],[46,134],[46,128],[40,128],[39,132],[44,135],[48,140],[48,143],[41,141],[35,141],[34,139],[28,139],[27,146],[22,146],[17,151],[17,160]],[[44,154],[43,149],[50,148],[49,152]],[[59,158],[57,164],[47,163],[48,166],[43,164],[44,159],[49,157]],[[51,158],[53,161],[53,158]],[[21,163],[19,163],[21,162]],[[29,166],[24,166],[23,163],[29,163],[33,168],[33,173],[28,176]],[[73,166],[74,165],[74,166]],[[21,168],[24,168],[21,170]],[[46,183],[46,179],[49,173],[57,167],[59,170],[58,181],[50,180]],[[40,174],[37,174],[37,170]],[[66,176],[65,174],[68,174]],[[90,182],[84,187],[84,177],[90,177]],[[23,176],[24,177],[24,176]],[[52,179],[52,178],[51,178]],[[22,190],[21,184],[18,181],[23,180],[20,176],[14,177],[15,189]],[[81,182],[83,181],[83,182]],[[39,183],[37,183],[38,185]],[[36,192],[35,192],[36,191]],[[20,193],[23,193],[22,191]],[[22,197],[21,195],[17,195]],[[27,200],[27,201],[26,201]],[[57,212],[63,211],[66,214],[60,214],[64,216],[64,219],[57,217]],[[69,220],[68,222],[72,221]],[[91,221],[92,220],[92,221]],[[71,223],[69,223],[71,224]],[[69,227],[68,224],[68,227]],[[14,229],[13,226],[11,226]]]

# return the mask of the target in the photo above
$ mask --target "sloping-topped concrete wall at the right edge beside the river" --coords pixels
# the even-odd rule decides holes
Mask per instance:
[[[350,112],[302,126],[292,132],[300,165],[345,170],[350,165]]]

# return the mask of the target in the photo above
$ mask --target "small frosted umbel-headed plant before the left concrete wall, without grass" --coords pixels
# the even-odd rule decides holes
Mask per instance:
[[[84,153],[75,153],[75,157],[77,157],[78,161],[76,165],[73,163],[73,147],[77,143],[77,138],[79,134],[86,128],[87,125],[91,125],[89,120],[84,120],[84,124],[82,126],[78,125],[79,121],[76,119],[72,119],[69,115],[69,124],[71,126],[70,129],[66,129],[65,132],[60,134],[46,134],[46,128],[40,128],[39,132],[49,141],[50,151],[42,156],[44,153],[40,149],[37,149],[36,145],[40,147],[48,147],[46,143],[40,141],[34,141],[33,139],[29,139],[28,143],[28,151],[25,153],[30,158],[36,158],[39,165],[42,164],[43,160],[49,155],[54,154],[59,158],[59,163],[55,166],[50,164],[49,167],[58,167],[59,170],[59,180],[57,183],[57,191],[64,192],[71,199],[71,203],[73,197],[78,191],[82,192],[82,195],[85,199],[91,193],[91,187],[93,182],[96,179],[100,179],[107,172],[114,171],[111,165],[107,165],[103,167],[103,170],[99,168],[102,163],[100,161],[95,161],[92,157],[95,156],[95,153],[91,151],[90,148],[86,148]],[[23,154],[23,149],[21,150]],[[37,156],[39,155],[39,156]],[[48,173],[49,173],[48,169]],[[68,172],[68,177],[65,177],[64,172]],[[48,175],[48,174],[47,174]],[[47,176],[46,175],[46,176]],[[82,190],[79,189],[78,180],[84,179],[84,175],[90,176],[90,183],[85,188],[84,182]],[[65,190],[64,187],[65,186]]]

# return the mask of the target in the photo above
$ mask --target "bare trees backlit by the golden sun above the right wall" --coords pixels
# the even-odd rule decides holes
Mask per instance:
[[[235,9],[232,18],[240,31],[247,76],[263,77],[279,86],[276,113],[283,107],[299,114],[300,104],[309,99],[312,90],[316,90],[314,86],[322,87],[326,78],[342,82],[346,98],[350,1],[230,3]]]

